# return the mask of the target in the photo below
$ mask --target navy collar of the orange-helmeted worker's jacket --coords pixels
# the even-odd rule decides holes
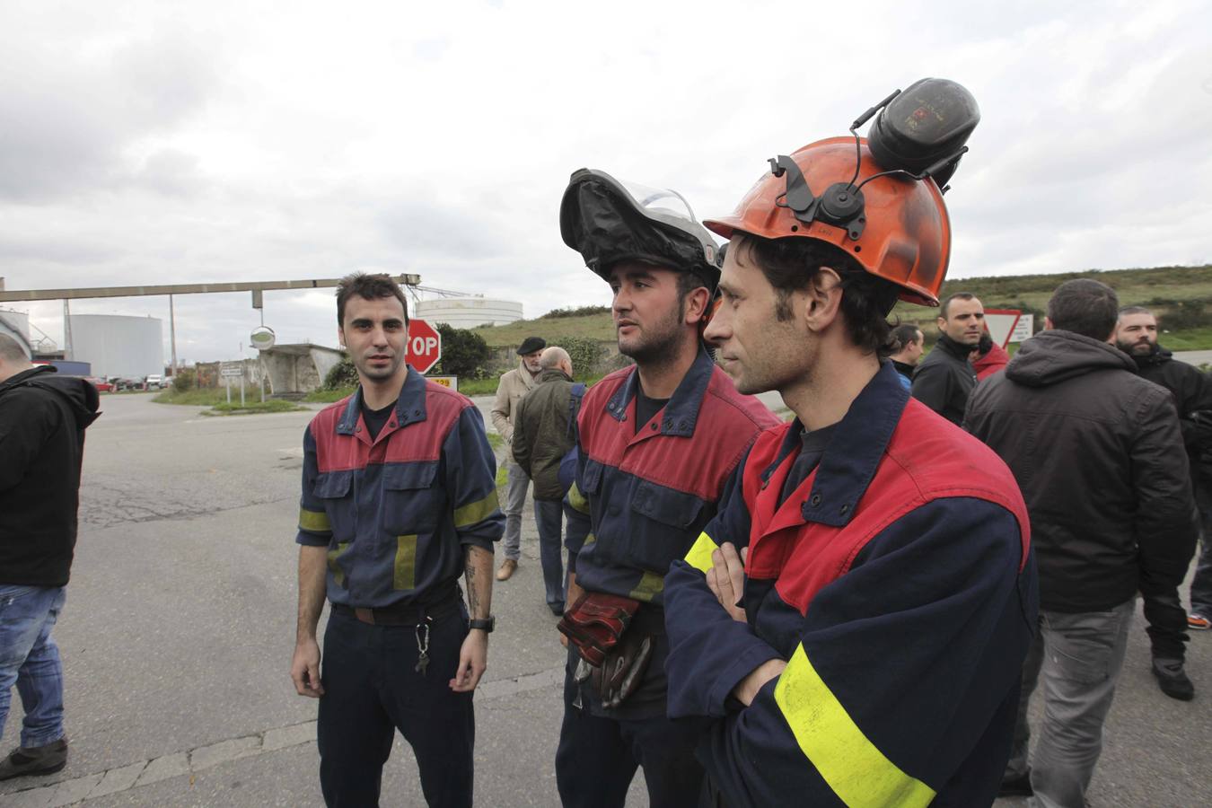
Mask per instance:
[[[800,509],[805,522],[831,527],[850,523],[875,477],[908,402],[909,390],[901,384],[892,363],[884,362],[850,405],[821,458],[821,465],[810,477],[813,481],[812,493]],[[778,457],[762,471],[762,482],[768,481],[784,463],[795,462],[791,455],[799,451],[802,430],[804,425],[797,419],[787,430]],[[779,479],[787,477],[779,475]]]

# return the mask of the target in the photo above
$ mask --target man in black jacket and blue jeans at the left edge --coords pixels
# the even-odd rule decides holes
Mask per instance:
[[[32,366],[0,334],[0,734],[15,682],[25,709],[21,746],[0,760],[0,780],[68,762],[51,629],[75,551],[84,430],[96,418],[95,386]]]

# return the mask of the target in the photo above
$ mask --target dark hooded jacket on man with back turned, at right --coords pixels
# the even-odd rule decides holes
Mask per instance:
[[[1023,491],[1042,608],[1102,612],[1182,581],[1196,528],[1178,417],[1127,355],[1042,331],[981,383],[965,428]]]

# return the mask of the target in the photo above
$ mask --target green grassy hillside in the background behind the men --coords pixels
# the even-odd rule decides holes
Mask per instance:
[[[1056,275],[1013,275],[1000,277],[971,277],[943,283],[945,298],[955,292],[972,292],[990,309],[1024,309],[1044,311],[1052,291],[1064,281],[1075,277],[1094,277],[1116,291],[1122,305],[1148,305],[1162,317],[1176,306],[1190,305],[1200,309],[1205,302],[1212,303],[1212,265],[1205,267],[1156,267],[1153,269],[1119,269],[1110,271],[1086,270]],[[1185,306],[1184,306],[1185,308]],[[1212,309],[1212,305],[1208,306]],[[1197,314],[1187,311],[1187,315]],[[934,310],[901,303],[894,316],[904,322],[919,322],[930,339],[933,339]],[[1185,317],[1190,320],[1190,316]],[[1040,323],[1042,327],[1042,316]],[[560,337],[587,337],[611,342],[614,326],[608,311],[573,317],[537,317],[519,320],[508,326],[484,326],[475,329],[494,348],[518,345],[530,334],[541,334],[549,342]],[[1182,328],[1167,328],[1162,342],[1176,350],[1212,349],[1212,310],[1207,320],[1184,322]]]

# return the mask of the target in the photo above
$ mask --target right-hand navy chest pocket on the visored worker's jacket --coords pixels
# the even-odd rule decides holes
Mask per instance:
[[[681,491],[641,481],[631,497],[628,556],[639,566],[664,574],[674,558],[686,555],[707,523],[707,503]]]

